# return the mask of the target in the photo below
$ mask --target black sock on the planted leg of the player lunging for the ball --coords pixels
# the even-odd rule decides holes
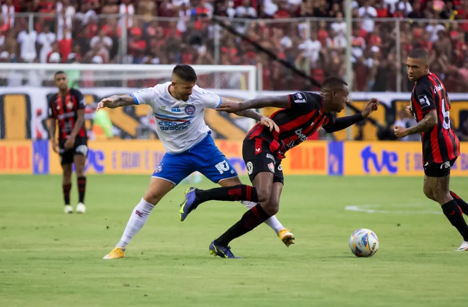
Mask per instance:
[[[255,205],[252,209],[245,212],[242,215],[240,221],[234,224],[233,227],[226,230],[219,238],[215,240],[215,244],[221,246],[228,246],[229,242],[234,240],[235,238],[253,230],[255,227],[259,226],[263,222],[265,222],[270,215],[263,210],[260,204]]]

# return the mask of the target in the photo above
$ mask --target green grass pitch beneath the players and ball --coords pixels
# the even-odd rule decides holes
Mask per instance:
[[[286,176],[277,217],[296,244],[261,225],[231,243],[240,260],[212,257],[208,245],[244,207],[209,202],[181,223],[180,185],[114,261],[102,257],[149,176],[88,176],[84,215],[63,213],[60,176],[0,180],[0,306],[467,306],[468,253],[454,252],[462,239],[425,199],[422,177]],[[468,199],[468,178],[451,186]],[[75,179],[72,189],[76,203]],[[380,239],[372,258],[349,250],[359,228]]]

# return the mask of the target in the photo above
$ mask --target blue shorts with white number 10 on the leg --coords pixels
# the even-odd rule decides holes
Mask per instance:
[[[202,173],[213,183],[237,176],[234,167],[208,133],[203,140],[184,153],[165,153],[152,177],[178,185],[195,171]]]

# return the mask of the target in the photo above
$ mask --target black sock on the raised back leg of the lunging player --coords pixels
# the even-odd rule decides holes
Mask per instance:
[[[208,200],[248,200],[258,202],[257,189],[246,185],[214,188],[210,190],[197,190],[196,199],[202,203]]]

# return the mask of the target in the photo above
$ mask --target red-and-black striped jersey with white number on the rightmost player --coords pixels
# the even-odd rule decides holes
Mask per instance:
[[[450,124],[447,92],[440,79],[432,73],[419,78],[411,94],[411,106],[417,122],[429,111],[437,112],[437,124],[421,133],[424,162],[443,163],[460,155],[460,141]]]

